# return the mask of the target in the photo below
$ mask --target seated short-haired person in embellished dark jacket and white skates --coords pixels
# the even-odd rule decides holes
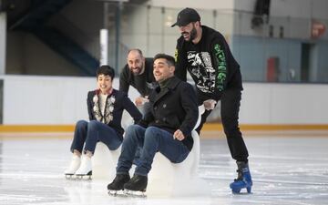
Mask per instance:
[[[118,149],[123,140],[124,129],[121,127],[121,119],[124,109],[128,111],[135,123],[142,118],[128,95],[112,87],[114,76],[115,71],[112,67],[101,66],[97,69],[97,89],[87,93],[87,111],[90,121],[77,121],[70,149],[73,158],[69,168],[65,170],[66,176],[92,175],[91,157],[97,141],[105,143],[110,150]]]

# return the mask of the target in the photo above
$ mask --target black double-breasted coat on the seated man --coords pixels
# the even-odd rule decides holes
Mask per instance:
[[[150,110],[140,121],[144,128],[154,126],[174,133],[180,129],[186,137],[182,143],[191,150],[191,131],[198,119],[195,91],[178,77],[169,79],[168,86],[156,87],[149,95]]]

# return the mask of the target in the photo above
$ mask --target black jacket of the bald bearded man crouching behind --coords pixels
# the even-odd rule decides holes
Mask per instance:
[[[128,87],[135,87],[142,97],[149,96],[155,77],[153,74],[153,58],[146,58],[145,72],[139,76],[133,75],[128,64],[123,67],[119,76],[119,90],[128,93]]]

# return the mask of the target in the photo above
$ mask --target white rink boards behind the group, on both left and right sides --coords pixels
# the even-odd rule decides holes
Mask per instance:
[[[5,125],[66,125],[87,119],[96,77],[0,76]],[[114,80],[118,88],[118,78]],[[244,83],[241,124],[327,124],[328,85]],[[130,89],[132,101],[138,97]]]

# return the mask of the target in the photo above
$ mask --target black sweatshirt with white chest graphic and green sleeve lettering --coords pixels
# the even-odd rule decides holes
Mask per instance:
[[[175,75],[186,81],[188,70],[202,98],[219,100],[225,89],[242,89],[240,65],[220,32],[208,26],[201,27],[202,36],[196,45],[179,37]]]

